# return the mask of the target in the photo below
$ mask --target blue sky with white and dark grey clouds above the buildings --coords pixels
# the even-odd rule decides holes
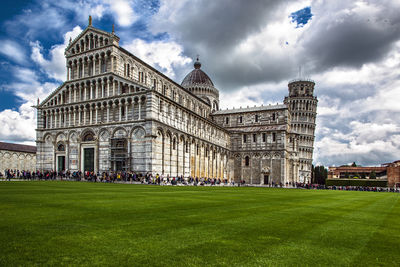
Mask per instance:
[[[8,3],[4,3],[8,2]],[[35,112],[66,77],[69,38],[93,24],[180,83],[200,55],[222,108],[282,102],[316,82],[315,164],[400,159],[400,1],[3,0],[0,140],[34,144]]]

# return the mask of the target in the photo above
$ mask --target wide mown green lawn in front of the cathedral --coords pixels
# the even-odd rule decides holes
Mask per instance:
[[[399,194],[0,183],[0,265],[400,264]]]

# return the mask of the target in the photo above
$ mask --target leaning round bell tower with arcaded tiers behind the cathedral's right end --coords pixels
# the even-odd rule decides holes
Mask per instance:
[[[285,104],[291,113],[292,132],[298,134],[300,182],[311,182],[311,165],[314,151],[317,97],[314,96],[315,82],[296,79],[288,84],[289,96]]]

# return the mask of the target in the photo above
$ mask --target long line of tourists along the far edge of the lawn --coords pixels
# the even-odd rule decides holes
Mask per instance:
[[[240,180],[238,183],[228,181],[227,179],[217,178],[198,178],[183,176],[170,177],[152,175],[151,173],[135,173],[135,172],[81,172],[81,171],[20,171],[20,170],[4,170],[0,172],[0,178],[10,181],[11,179],[22,180],[69,180],[69,181],[88,181],[88,182],[103,182],[103,183],[141,183],[153,185],[194,185],[194,186],[255,186],[246,183],[245,180]],[[322,190],[344,190],[344,191],[372,191],[372,192],[400,192],[398,187],[367,187],[367,186],[325,186],[321,184],[311,183],[274,183],[262,185],[263,187],[276,188],[302,188],[302,189],[322,189]]]

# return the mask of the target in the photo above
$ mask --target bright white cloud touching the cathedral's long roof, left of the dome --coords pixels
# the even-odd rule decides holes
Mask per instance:
[[[134,39],[122,46],[146,63],[158,67],[171,78],[175,77],[175,67],[192,62],[190,58],[183,55],[182,46],[171,41],[145,42]]]

